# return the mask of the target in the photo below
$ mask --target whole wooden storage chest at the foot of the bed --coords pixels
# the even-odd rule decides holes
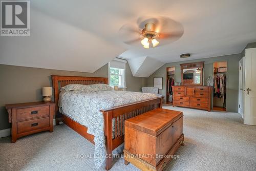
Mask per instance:
[[[156,109],[125,120],[124,160],[141,170],[163,170],[183,145],[183,113]]]

